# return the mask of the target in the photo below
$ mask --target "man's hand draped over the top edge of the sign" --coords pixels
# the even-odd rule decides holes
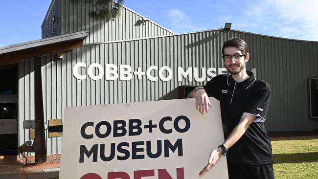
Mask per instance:
[[[195,107],[200,113],[207,112],[211,103],[203,87],[195,90]]]

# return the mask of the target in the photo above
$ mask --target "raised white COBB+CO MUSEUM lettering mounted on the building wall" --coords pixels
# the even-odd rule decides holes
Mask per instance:
[[[80,74],[79,70],[85,69],[87,73]],[[197,81],[203,82],[214,78],[217,74],[227,74],[227,68],[215,68],[215,67],[188,67],[184,70],[182,67],[177,68],[177,74],[173,72],[170,67],[163,66],[150,66],[146,70],[142,70],[141,67],[137,67],[135,71],[129,65],[105,64],[103,67],[100,64],[93,63],[87,67],[86,63],[80,62],[73,66],[73,75],[79,80],[86,80],[87,76],[92,80],[100,80],[105,75],[105,80],[120,80],[129,81],[132,80],[133,76],[137,79],[141,79],[146,76],[150,81],[170,81],[173,75],[178,75],[178,81],[181,82],[183,79],[187,79],[188,82]],[[252,68],[251,71],[256,77],[256,68]]]

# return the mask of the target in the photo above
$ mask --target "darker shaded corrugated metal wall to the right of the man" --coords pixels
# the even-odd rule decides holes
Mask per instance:
[[[248,67],[268,82],[272,99],[268,131],[313,131],[318,120],[309,116],[309,78],[318,76],[318,43],[230,31],[250,45]]]

